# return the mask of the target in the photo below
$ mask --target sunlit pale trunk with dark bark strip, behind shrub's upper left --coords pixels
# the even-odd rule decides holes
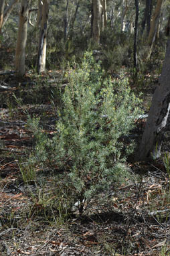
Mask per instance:
[[[50,0],[44,0],[41,14],[41,29],[39,34],[39,46],[37,53],[37,73],[46,70],[46,48],[48,33],[48,13]]]

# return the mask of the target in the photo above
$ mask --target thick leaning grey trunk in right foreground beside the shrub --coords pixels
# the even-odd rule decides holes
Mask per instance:
[[[159,85],[153,95],[151,109],[145,131],[143,133],[139,156],[140,160],[145,160],[149,157],[156,159],[161,155],[161,143],[163,138],[163,130],[167,125],[167,117],[170,109],[170,36],[167,34],[167,51]]]

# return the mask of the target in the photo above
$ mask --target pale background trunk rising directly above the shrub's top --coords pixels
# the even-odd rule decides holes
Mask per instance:
[[[92,39],[94,43],[100,44],[100,29],[102,5],[100,0],[93,0],[93,22],[92,22]]]

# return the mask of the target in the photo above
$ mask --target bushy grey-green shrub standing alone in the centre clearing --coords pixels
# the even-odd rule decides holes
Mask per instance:
[[[36,156],[60,171],[60,186],[72,204],[79,202],[82,214],[86,203],[128,175],[124,160],[129,145],[123,138],[140,113],[140,101],[126,79],[104,78],[91,53],[67,76],[56,134],[52,139],[38,135]]]

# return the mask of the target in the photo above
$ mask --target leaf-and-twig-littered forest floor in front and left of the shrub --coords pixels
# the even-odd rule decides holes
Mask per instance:
[[[0,255],[170,255],[170,185],[163,159],[147,164],[131,159],[133,181],[114,192],[110,188],[108,201],[94,199],[81,217],[75,210],[65,221],[44,202],[47,194],[53,196],[54,174],[36,166],[36,178],[24,182],[20,162],[35,143],[27,117],[41,117],[41,129],[55,132],[50,95],[61,76],[56,71],[44,79],[0,77]],[[139,138],[144,126],[142,119]]]

